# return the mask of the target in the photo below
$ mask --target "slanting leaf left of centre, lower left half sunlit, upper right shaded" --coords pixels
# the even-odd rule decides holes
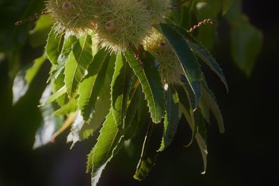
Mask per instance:
[[[84,121],[89,121],[92,111],[94,110],[96,100],[100,93],[105,76],[110,56],[105,49],[100,51],[94,56],[93,62],[89,65],[88,75],[84,77],[80,84],[78,101],[79,109],[82,111]]]

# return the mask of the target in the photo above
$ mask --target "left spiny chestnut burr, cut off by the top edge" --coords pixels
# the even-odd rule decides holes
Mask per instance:
[[[79,33],[91,29],[96,15],[96,0],[48,0],[46,7],[59,32]]]

